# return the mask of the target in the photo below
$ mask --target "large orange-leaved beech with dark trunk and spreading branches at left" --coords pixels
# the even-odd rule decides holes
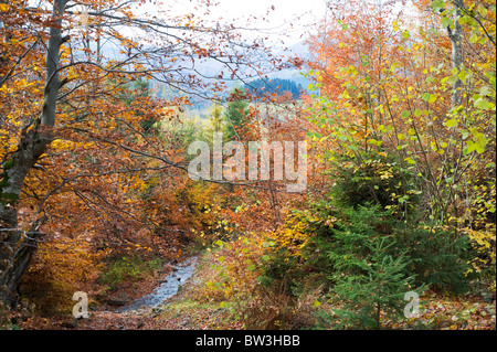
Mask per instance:
[[[212,6],[199,0],[192,13],[171,15],[146,0],[0,2],[2,301],[13,300],[43,224],[62,218],[55,213],[99,214],[102,205],[123,214],[123,186],[144,188],[138,173],[186,170],[144,132],[144,121],[168,117],[189,96],[208,97],[230,79],[283,65],[267,60],[262,40],[247,42],[233,24],[208,22]],[[207,60],[219,72],[202,73]],[[176,96],[138,97],[129,106],[119,96],[137,79],[166,84]]]

